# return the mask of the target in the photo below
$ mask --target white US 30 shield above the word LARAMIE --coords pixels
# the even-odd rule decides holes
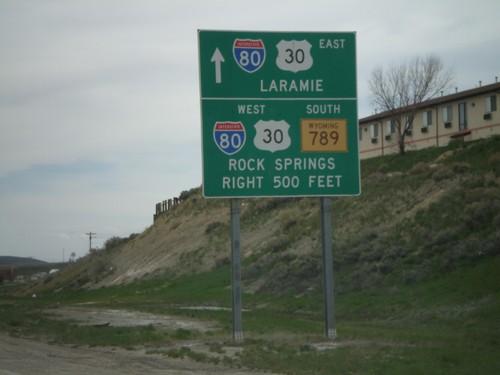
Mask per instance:
[[[300,72],[308,70],[313,64],[311,43],[307,40],[281,40],[277,45],[276,65],[281,70]]]

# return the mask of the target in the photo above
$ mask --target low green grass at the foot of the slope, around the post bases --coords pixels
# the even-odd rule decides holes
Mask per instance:
[[[224,363],[284,374],[496,374],[500,343],[500,258],[464,262],[457,270],[409,285],[385,285],[337,296],[338,347],[323,335],[320,295],[298,298],[244,294],[245,342],[231,343],[229,311],[193,311],[179,305],[228,306],[229,268],[175,280],[150,280],[124,287],[78,293],[14,297],[0,288],[0,331],[49,337],[74,345],[133,348],[171,347],[165,355],[213,362],[182,343],[222,340],[239,346],[240,355]],[[42,313],[55,302],[93,301],[113,308],[189,315],[218,322],[214,333],[159,330],[153,326],[82,327]],[[248,306],[248,307],[247,307]],[[180,345],[180,346],[179,346]],[[186,345],[187,347],[187,345]],[[183,349],[184,348],[184,349]],[[219,351],[223,350],[219,347]],[[222,360],[221,360],[222,361]]]

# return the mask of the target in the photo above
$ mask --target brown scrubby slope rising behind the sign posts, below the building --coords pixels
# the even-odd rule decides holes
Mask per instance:
[[[500,244],[500,138],[362,162],[362,195],[333,200],[336,292],[413,283],[493,257]],[[229,263],[229,202],[199,189],[149,229],[89,255],[50,287],[98,288]],[[242,201],[250,292],[316,293],[319,199]],[[76,275],[76,277],[75,277]]]

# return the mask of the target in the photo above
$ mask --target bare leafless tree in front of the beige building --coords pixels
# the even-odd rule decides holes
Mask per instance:
[[[453,72],[436,55],[392,65],[376,67],[368,82],[372,104],[389,112],[398,136],[399,154],[405,153],[405,137],[412,129],[419,105],[450,87]]]

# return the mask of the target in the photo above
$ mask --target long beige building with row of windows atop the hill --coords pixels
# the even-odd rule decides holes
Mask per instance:
[[[497,82],[423,102],[405,137],[405,149],[446,146],[453,139],[470,141],[500,134],[499,94]],[[397,152],[398,133],[388,112],[359,120],[361,159]]]

